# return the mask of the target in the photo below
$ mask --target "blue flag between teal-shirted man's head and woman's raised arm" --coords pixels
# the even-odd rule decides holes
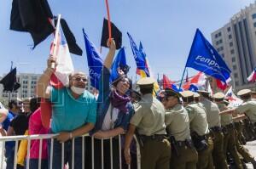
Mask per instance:
[[[97,51],[95,45],[90,42],[88,36],[85,34],[84,29],[84,43],[86,48],[89,73],[90,73],[90,85],[99,89],[99,82],[101,78],[101,72],[103,67],[103,61],[101,54]]]

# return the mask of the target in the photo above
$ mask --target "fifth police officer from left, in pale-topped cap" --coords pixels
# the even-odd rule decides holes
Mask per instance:
[[[232,155],[235,161],[236,168],[242,169],[243,167],[239,158],[239,153],[236,149],[235,126],[232,120],[233,116],[232,114],[224,114],[224,111],[230,110],[224,103],[224,97],[224,93],[215,93],[213,95],[213,99],[220,110],[221,127],[224,132],[224,157],[227,159],[227,151],[230,152],[230,155]]]

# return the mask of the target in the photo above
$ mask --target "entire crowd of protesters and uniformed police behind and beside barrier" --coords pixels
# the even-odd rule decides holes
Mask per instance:
[[[41,157],[41,168],[48,169],[50,149],[53,149],[54,169],[62,169],[62,153],[66,168],[94,165],[96,169],[102,166],[118,169],[121,156],[123,168],[130,164],[136,169],[138,145],[143,169],[230,166],[240,169],[246,168],[247,162],[256,168],[254,157],[243,146],[256,138],[256,99],[251,90],[237,93],[243,103],[232,107],[224,93],[210,96],[206,90],[180,93],[171,88],[154,93],[151,77],[140,79],[137,87],[133,87],[122,70],[119,77],[110,82],[115,42],[109,41],[108,47],[97,98],[85,90],[88,77],[84,72],[73,72],[68,87],[49,87],[55,69],[52,67],[55,57],[50,56],[47,69],[38,80],[37,98],[11,100],[9,110],[0,104],[3,137],[57,134],[53,144],[50,139],[43,140],[41,155],[40,141],[32,140],[27,148],[30,149],[29,164],[26,164],[26,140],[19,142],[17,154],[15,142],[7,142],[4,154],[7,169],[14,168],[15,155],[17,168],[29,165],[36,169]],[[41,99],[52,105],[49,127],[43,125],[41,116],[45,112],[40,108]],[[80,137],[86,133],[94,139]]]

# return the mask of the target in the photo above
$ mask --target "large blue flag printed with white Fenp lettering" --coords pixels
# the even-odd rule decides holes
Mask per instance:
[[[231,70],[199,29],[195,32],[186,67],[200,70],[222,82],[230,81]]]

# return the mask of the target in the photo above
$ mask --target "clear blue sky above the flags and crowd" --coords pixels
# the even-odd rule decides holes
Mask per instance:
[[[137,42],[142,41],[149,65],[154,74],[165,73],[176,81],[195,35],[200,28],[209,41],[211,32],[226,24],[233,14],[253,3],[253,0],[108,0],[111,20],[123,32],[126,59],[135,76],[135,61],[126,35],[129,31]],[[107,16],[104,0],[49,0],[54,14],[62,14],[73,31],[83,56],[72,55],[76,70],[88,73],[82,27],[90,40],[100,46],[102,19]],[[9,71],[14,61],[18,73],[42,73],[49,56],[51,36],[31,50],[32,37],[28,33],[9,30],[12,1],[0,3],[0,76]],[[103,58],[107,49],[103,49]],[[189,76],[195,71],[189,70]],[[156,76],[156,75],[154,75]]]

